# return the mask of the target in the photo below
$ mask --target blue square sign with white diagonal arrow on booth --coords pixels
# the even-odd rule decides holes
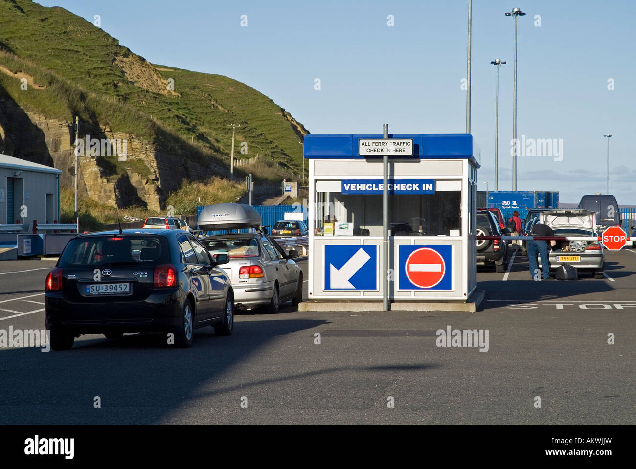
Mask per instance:
[[[377,245],[324,245],[323,290],[378,290]]]

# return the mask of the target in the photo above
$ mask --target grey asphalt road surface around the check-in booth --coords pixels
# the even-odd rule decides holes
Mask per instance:
[[[0,262],[0,330],[43,329],[53,264]],[[190,349],[141,334],[3,348],[0,424],[634,425],[636,252],[606,251],[603,279],[536,282],[516,254],[509,267],[478,268],[476,313],[287,303],[237,315],[231,337],[197,329]],[[438,347],[448,326],[487,330],[488,350]]]

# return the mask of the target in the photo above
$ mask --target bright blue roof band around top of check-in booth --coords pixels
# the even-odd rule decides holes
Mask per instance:
[[[358,154],[359,139],[382,139],[374,133],[310,133],[305,135],[304,156],[309,160],[364,160],[382,158]],[[389,139],[413,139],[413,156],[390,156],[400,160],[451,160],[467,158],[474,167],[476,146],[470,133],[389,133]]]

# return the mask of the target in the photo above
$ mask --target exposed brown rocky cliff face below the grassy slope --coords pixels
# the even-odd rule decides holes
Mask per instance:
[[[183,179],[205,179],[224,168],[184,160],[179,153],[167,153],[155,144],[130,133],[113,132],[107,126],[80,123],[79,138],[119,141],[126,150],[125,161],[111,154],[79,156],[79,193],[106,205],[141,205],[161,212],[167,194]],[[0,100],[0,153],[62,170],[61,184],[74,186],[74,123],[46,119],[25,112],[11,100]],[[114,153],[114,151],[113,151]]]

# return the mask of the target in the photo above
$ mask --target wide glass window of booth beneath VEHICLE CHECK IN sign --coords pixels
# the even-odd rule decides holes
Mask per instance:
[[[382,236],[382,194],[342,194],[340,181],[315,183],[314,233]],[[389,194],[389,235],[460,236],[461,181],[437,181],[434,194]]]

